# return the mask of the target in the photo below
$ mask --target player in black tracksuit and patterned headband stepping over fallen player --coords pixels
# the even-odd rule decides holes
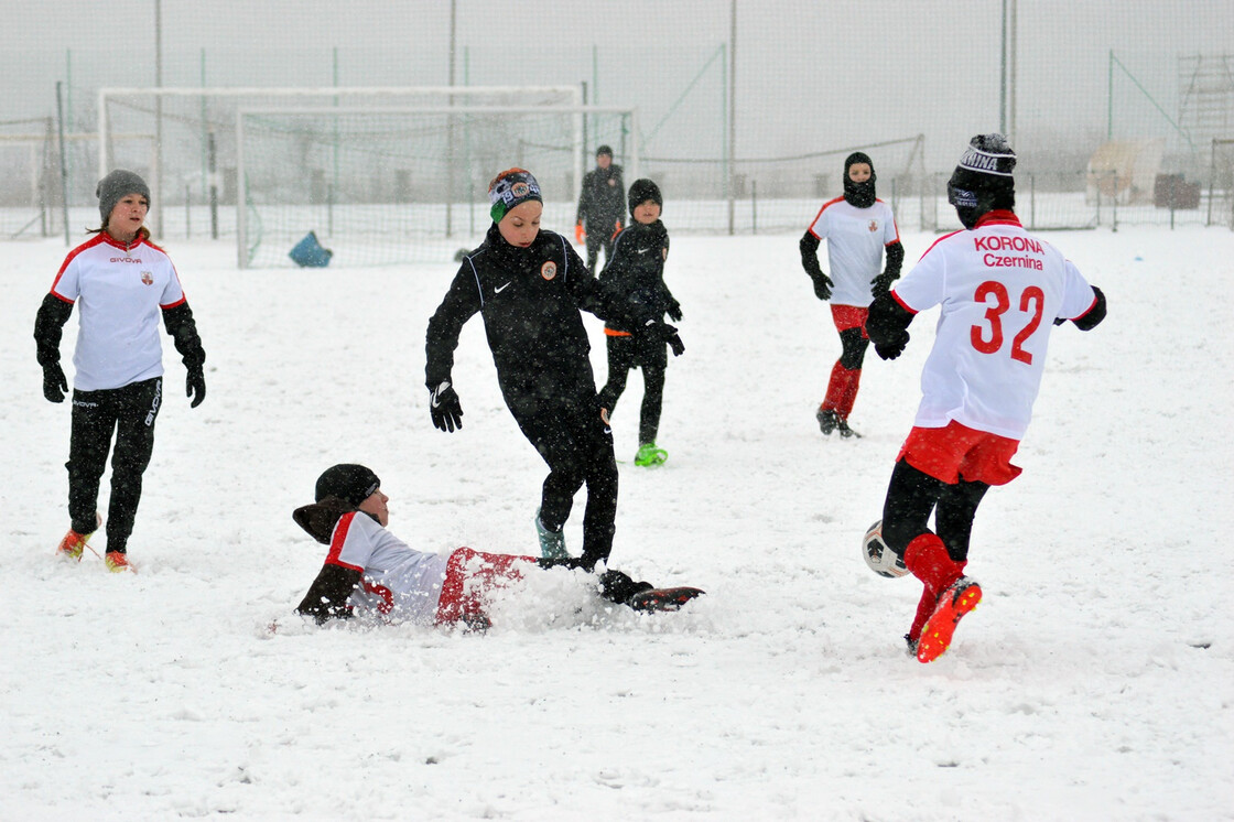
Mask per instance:
[[[602,289],[560,235],[540,231],[544,202],[529,172],[512,168],[489,185],[492,226],[463,258],[445,299],[428,321],[426,384],[433,425],[463,423],[453,388],[454,349],[474,315],[497,368],[502,397],[523,434],[549,465],[536,527],[543,557],[565,557],[561,528],[574,494],[587,485],[582,567],[606,562],[617,515],[612,428],[600,416],[591,344],[581,311],[619,317],[637,333],[685,351],[676,328]]]

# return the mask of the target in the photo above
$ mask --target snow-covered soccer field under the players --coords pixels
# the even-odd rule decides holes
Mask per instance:
[[[905,236],[907,262],[933,238]],[[164,338],[141,573],[121,576],[52,557],[69,407],[42,399],[31,334],[64,244],[0,244],[0,818],[1234,820],[1234,232],[1046,239],[1109,317],[1055,330],[1024,474],[977,516],[985,601],[930,665],[901,639],[918,584],[858,543],[935,315],[898,360],[870,352],[864,438],[824,439],[839,342],[796,233],[682,237],[669,259],[670,459],[621,467],[613,565],[708,595],[637,616],[544,574],[486,636],[292,615],[323,549],[291,510],[332,463],[376,470],[412,546],[534,550],[545,468],[479,318],[465,427],[428,420],[424,326],[453,263],[237,272],[231,242],[172,242],[209,394],[189,409]],[[640,396],[636,374],[622,459]],[[575,550],[580,520],[581,496]]]

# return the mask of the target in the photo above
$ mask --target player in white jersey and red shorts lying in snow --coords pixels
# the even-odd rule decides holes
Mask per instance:
[[[415,550],[385,526],[381,480],[364,465],[341,464],[317,478],[316,502],[292,513],[308,534],[329,546],[326,564],[296,608],[318,623],[360,613],[421,625],[486,627],[487,597],[532,568],[582,568],[580,558],[538,559],[458,548],[448,557]],[[611,602],[636,611],[676,611],[703,591],[658,589],[617,570],[596,575]]]

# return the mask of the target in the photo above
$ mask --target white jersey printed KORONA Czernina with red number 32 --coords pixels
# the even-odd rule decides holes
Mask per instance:
[[[913,313],[942,306],[914,425],[954,420],[1013,439],[1028,430],[1055,317],[1096,302],[1076,267],[1011,211],[939,238],[891,295]]]

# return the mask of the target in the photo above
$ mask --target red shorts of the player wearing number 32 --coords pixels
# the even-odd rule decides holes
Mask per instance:
[[[907,460],[917,470],[949,485],[960,479],[1006,485],[1023,470],[1011,464],[1018,448],[1018,439],[975,431],[953,421],[945,428],[914,426],[896,462]]]

